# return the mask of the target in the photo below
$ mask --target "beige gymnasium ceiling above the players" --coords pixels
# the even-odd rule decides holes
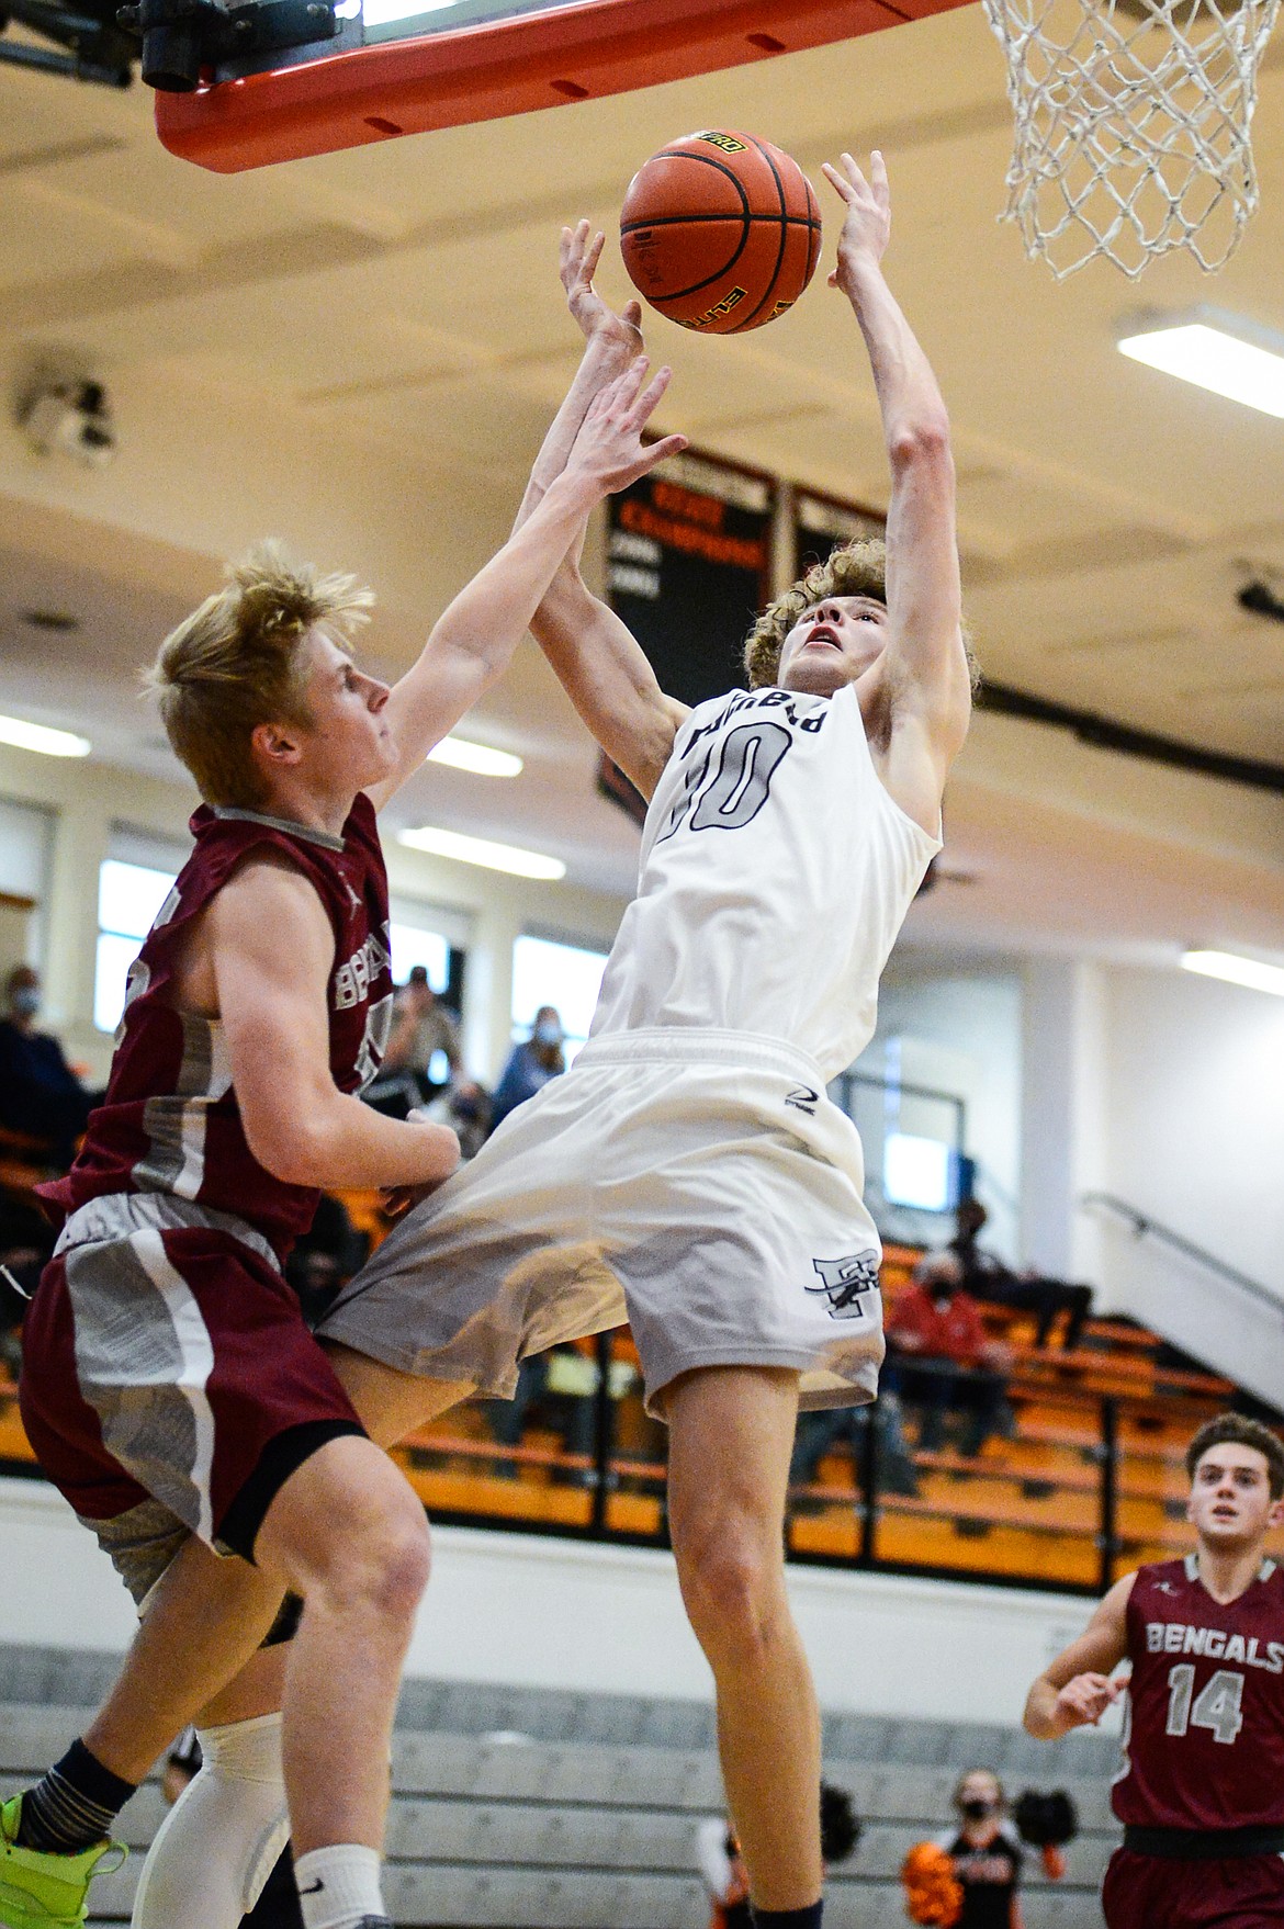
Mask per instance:
[[[1215,301],[1284,328],[1284,29],[1255,150],[1263,208],[1207,280],[1093,266],[1057,285],[999,226],[1010,112],[981,10],[634,96],[235,177],[168,156],[150,95],[0,68],[0,706],[174,774],[133,667],[274,530],[382,592],[370,654],[403,667],[503,538],[576,343],[555,241],[611,230],[673,133],[746,125],[819,179],[883,147],[889,276],[954,422],[960,544],[987,673],[1205,748],[1284,764],[1284,422],[1124,361],[1120,318]],[[827,212],[831,193],[819,181]],[[825,260],[837,222],[829,226]],[[617,255],[602,274],[623,299]],[[654,320],[663,428],[881,505],[885,461],[846,303],[817,276],[783,320],[706,341]],[[37,365],[106,382],[120,457],[33,455]],[[50,635],[23,611],[66,610]],[[636,837],[592,795],[582,733],[532,644],[474,720],[513,785],[426,770],[401,822],[509,835],[627,891]],[[954,872],[922,941],[1159,955],[1199,937],[1284,959],[1284,802],[981,716],[950,799]],[[1157,949],[1159,947],[1159,949]]]

